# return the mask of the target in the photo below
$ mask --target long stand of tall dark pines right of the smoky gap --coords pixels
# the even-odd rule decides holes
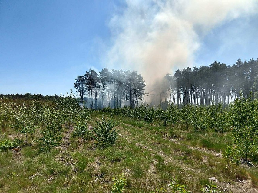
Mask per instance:
[[[239,97],[257,98],[258,59],[236,61],[227,66],[214,61],[208,66],[196,66],[193,69],[176,70],[174,75],[166,74],[152,87],[149,104],[174,103],[178,105],[229,104]]]

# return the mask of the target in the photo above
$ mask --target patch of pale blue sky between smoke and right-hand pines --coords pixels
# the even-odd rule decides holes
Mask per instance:
[[[207,65],[217,60],[232,65],[238,58],[258,58],[258,15],[238,18],[214,28],[202,41],[197,63]]]

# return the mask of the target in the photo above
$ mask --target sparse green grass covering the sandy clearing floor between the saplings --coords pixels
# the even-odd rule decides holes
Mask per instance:
[[[93,127],[102,113],[95,111],[89,124]],[[104,113],[104,117],[110,117]],[[19,156],[12,151],[0,152],[0,192],[110,192],[112,177],[124,173],[126,193],[149,193],[155,188],[167,188],[170,178],[187,184],[189,191],[198,192],[207,178],[216,177],[220,182],[251,179],[257,187],[256,168],[235,167],[227,169],[220,152],[230,136],[214,135],[213,130],[195,133],[191,129],[160,126],[114,116],[119,130],[113,147],[100,149],[94,140],[70,137],[65,148],[56,147],[42,153],[30,136],[32,144],[23,147]],[[5,129],[7,131],[8,129]],[[63,132],[66,130],[63,130]],[[1,138],[17,135],[8,130]],[[14,155],[15,154],[15,155]]]

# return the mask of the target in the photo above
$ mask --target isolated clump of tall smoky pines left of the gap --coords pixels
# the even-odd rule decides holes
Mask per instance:
[[[142,103],[145,81],[136,71],[104,68],[97,73],[90,69],[77,76],[74,88],[80,102],[88,108],[121,108],[124,105],[134,108]]]

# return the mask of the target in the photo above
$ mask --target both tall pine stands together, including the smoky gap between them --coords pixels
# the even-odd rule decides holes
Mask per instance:
[[[121,108],[124,105],[135,108],[140,103],[157,105],[211,105],[230,104],[239,97],[245,98],[250,92],[257,93],[258,59],[236,61],[227,66],[214,61],[208,66],[196,66],[176,70],[174,75],[167,73],[145,92],[145,81],[136,71],[109,70],[104,68],[97,73],[90,69],[77,76],[74,87],[81,103],[88,108]]]

